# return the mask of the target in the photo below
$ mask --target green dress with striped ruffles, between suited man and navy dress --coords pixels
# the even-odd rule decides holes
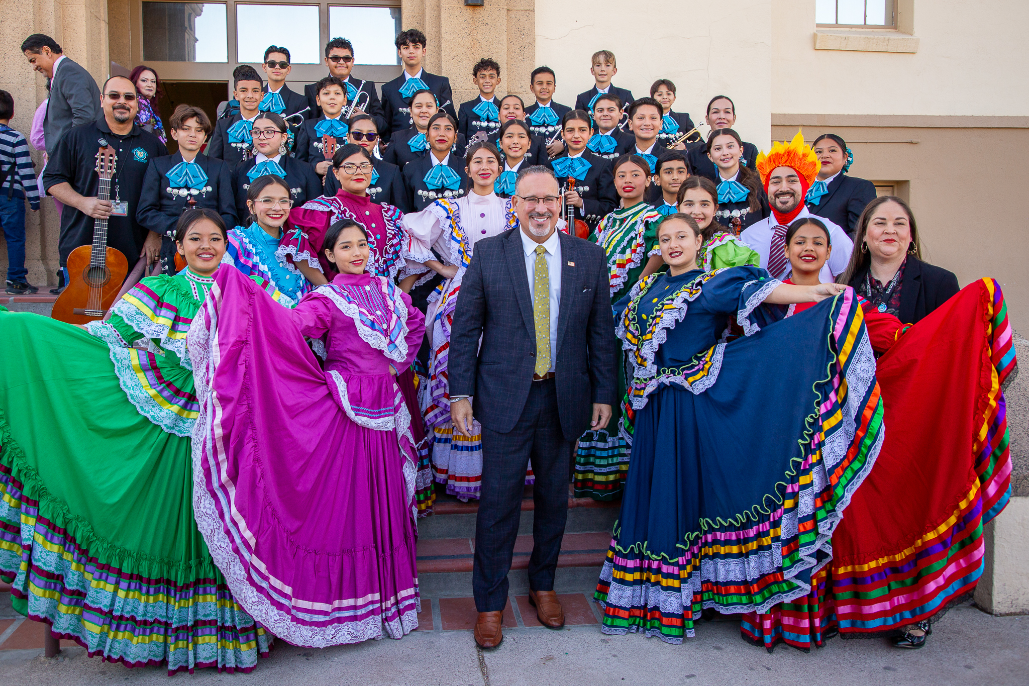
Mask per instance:
[[[607,253],[611,302],[617,302],[629,293],[651,255],[660,255],[658,224],[664,217],[646,203],[618,208],[597,225],[590,240]],[[626,393],[626,361],[618,340],[617,365],[618,400]],[[622,494],[629,470],[629,445],[622,436],[618,425],[622,418],[619,404],[611,409],[613,414],[606,429],[587,431],[579,438],[575,455],[575,497],[594,500],[614,500]]]

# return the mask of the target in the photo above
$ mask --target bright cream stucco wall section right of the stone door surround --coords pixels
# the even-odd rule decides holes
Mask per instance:
[[[730,96],[740,135],[766,148],[772,112],[771,9],[770,0],[655,0],[646,6],[652,20],[646,38],[637,40],[632,4],[537,0],[536,66],[554,69],[555,100],[572,106],[575,96],[593,85],[590,57],[611,50],[618,63],[615,85],[639,98],[650,94],[654,80],[670,78],[677,89],[675,109],[698,123],[712,96]]]

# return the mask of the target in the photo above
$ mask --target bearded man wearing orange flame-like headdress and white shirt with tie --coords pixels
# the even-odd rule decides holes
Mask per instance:
[[[790,223],[812,216],[804,197],[821,163],[811,146],[804,142],[804,134],[797,131],[788,144],[777,141],[768,154],[758,153],[756,167],[772,206],[772,216],[748,226],[740,234],[740,240],[760,255],[760,266],[776,279],[785,279],[790,272],[786,257],[786,230]],[[847,268],[854,244],[845,230],[828,219],[812,218],[829,229],[832,253],[819,276],[822,282],[830,282]]]

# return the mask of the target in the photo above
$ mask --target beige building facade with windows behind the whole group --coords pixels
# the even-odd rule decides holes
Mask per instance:
[[[981,277],[997,279],[1016,329],[1029,331],[1029,229],[1020,202],[1029,181],[1024,163],[1029,49],[1022,39],[1029,4],[652,0],[646,5],[646,32],[640,35],[634,32],[634,7],[615,0],[482,1],[478,6],[464,0],[171,3],[181,5],[176,11],[184,15],[205,16],[201,24],[207,28],[188,28],[196,33],[189,37],[197,38],[197,50],[218,40],[211,38],[211,17],[224,15],[225,44],[219,48],[224,57],[202,62],[190,61],[198,56],[189,49],[184,58],[168,48],[158,56],[164,59],[151,59],[159,32],[147,17],[157,10],[171,12],[157,6],[165,0],[0,0],[0,49],[7,65],[0,88],[14,96],[12,125],[27,133],[46,91],[43,77],[30,70],[17,47],[30,33],[41,32],[57,39],[98,83],[145,62],[168,83],[166,106],[188,99],[210,106],[224,99],[243,53],[253,52],[249,37],[237,39],[245,15],[253,11],[267,12],[269,36],[286,28],[307,31],[305,44],[290,46],[294,52],[318,48],[330,36],[354,39],[364,33],[368,25],[346,23],[357,16],[348,8],[392,12],[396,26],[425,32],[426,66],[450,77],[455,105],[475,96],[471,66],[481,57],[501,65],[499,92],[527,101],[531,70],[552,67],[558,76],[555,99],[571,105],[592,85],[590,56],[610,49],[617,56],[616,85],[640,97],[649,94],[657,78],[670,78],[678,88],[676,110],[689,112],[698,123],[711,97],[732,97],[736,128],[759,148],[788,140],[797,128],[809,141],[827,132],[842,136],[854,151],[852,175],[911,203],[928,260],[955,272],[962,285]],[[846,14],[854,7],[863,12],[858,20]],[[298,26],[301,14],[312,26]],[[388,33],[389,26],[377,27]],[[257,42],[262,49],[272,41]],[[381,58],[381,64],[370,64],[362,55],[358,50],[355,73],[379,83],[399,74],[395,61]],[[301,64],[294,58],[294,89],[324,75],[318,60]],[[41,153],[36,155],[38,168]],[[57,225],[48,202],[40,213],[30,213],[27,252],[35,284],[55,283]],[[0,262],[5,259],[0,248]],[[1020,337],[1018,347],[1029,360],[1029,342]],[[1002,614],[1029,612],[1027,378],[1023,374],[1021,385],[1009,389],[1008,399],[1016,498],[989,531],[987,574],[978,595],[983,607]]]

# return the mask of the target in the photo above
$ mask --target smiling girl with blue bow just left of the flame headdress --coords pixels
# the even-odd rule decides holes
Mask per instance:
[[[715,129],[708,136],[707,157],[718,170],[714,179],[718,184],[715,221],[737,236],[772,213],[760,177],[743,166],[742,154],[743,141],[732,129]]]

